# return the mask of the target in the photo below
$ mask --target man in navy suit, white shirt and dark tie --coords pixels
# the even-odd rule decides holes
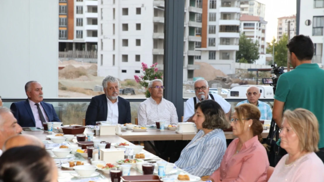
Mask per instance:
[[[25,85],[28,99],[14,102],[10,109],[21,127],[41,127],[45,122],[61,122],[52,104],[43,101],[43,88],[37,81]]]

